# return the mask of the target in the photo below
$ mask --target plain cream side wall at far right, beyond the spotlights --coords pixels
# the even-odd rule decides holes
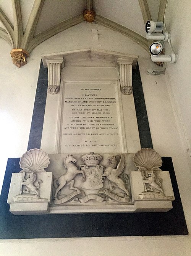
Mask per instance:
[[[190,10],[190,0],[168,0],[165,18],[173,49],[178,54],[178,61],[173,65],[168,64],[167,86],[171,97],[174,97],[172,104],[175,109],[175,118],[185,150],[188,151],[189,161],[191,160]],[[166,44],[166,53],[171,53],[168,44]]]

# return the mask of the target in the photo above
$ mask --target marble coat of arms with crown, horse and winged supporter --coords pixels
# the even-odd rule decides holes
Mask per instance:
[[[66,156],[66,172],[54,180],[54,204],[86,203],[92,200],[99,203],[129,202],[130,195],[126,187],[128,175],[123,173],[125,157],[122,154],[110,155],[105,166],[101,164],[102,159],[101,155],[90,152],[81,157],[84,164],[77,166],[77,160],[72,155]],[[78,176],[75,180],[79,174],[81,179]]]

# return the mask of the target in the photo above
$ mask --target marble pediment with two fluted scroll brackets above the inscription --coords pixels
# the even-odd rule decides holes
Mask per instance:
[[[137,55],[88,48],[43,55],[42,61],[48,68],[48,92],[56,94],[60,88],[60,73],[64,67],[115,67],[120,73],[121,92],[132,92],[132,68],[136,68]]]

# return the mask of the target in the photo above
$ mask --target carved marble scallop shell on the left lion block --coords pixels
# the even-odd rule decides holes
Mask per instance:
[[[49,160],[48,154],[42,149],[30,149],[20,158],[21,172],[46,172],[44,168],[50,164]]]

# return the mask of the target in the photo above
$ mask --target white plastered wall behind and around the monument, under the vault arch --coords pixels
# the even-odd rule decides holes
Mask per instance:
[[[154,149],[162,156],[173,158],[190,230],[190,173],[176,126],[176,110],[171,103],[173,99],[170,99],[167,89],[168,77],[148,76],[146,70],[154,64],[146,51],[127,37],[97,24],[80,23],[41,43],[32,51],[28,64],[20,69],[11,63],[10,46],[0,39],[1,179],[7,157],[21,157],[27,150],[41,55],[88,47],[139,55],[139,69]],[[189,242],[189,236],[19,239],[1,241],[0,255],[189,255]]]

